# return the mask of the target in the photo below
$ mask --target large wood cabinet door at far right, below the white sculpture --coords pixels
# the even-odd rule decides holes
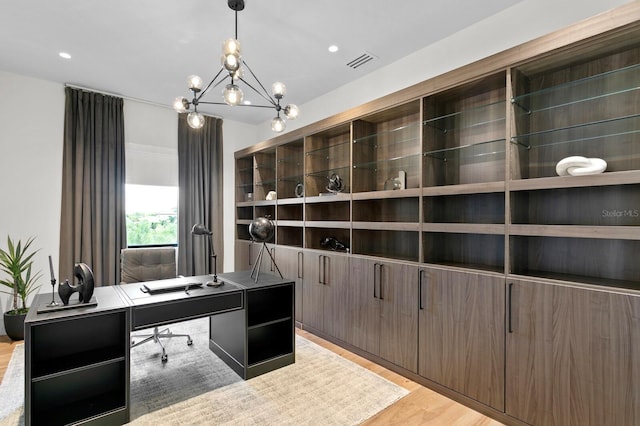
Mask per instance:
[[[534,425],[640,424],[640,297],[508,285],[507,414]]]

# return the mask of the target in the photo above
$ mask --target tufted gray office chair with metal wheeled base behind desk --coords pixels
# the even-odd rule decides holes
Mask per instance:
[[[126,248],[120,251],[120,282],[122,284],[175,278],[176,271],[174,247]],[[135,348],[154,341],[162,348],[162,362],[167,362],[168,355],[162,339],[172,337],[186,337],[187,345],[193,344],[188,334],[173,334],[169,328],[159,330],[158,327],[154,327],[151,334],[132,335],[131,347]],[[134,339],[142,340],[136,342]]]

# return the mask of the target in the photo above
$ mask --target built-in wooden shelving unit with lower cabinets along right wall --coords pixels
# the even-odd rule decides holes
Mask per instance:
[[[598,323],[591,318],[620,325],[622,334],[610,336],[616,344],[640,340],[632,312],[607,307],[640,304],[640,5],[622,9],[236,153],[237,176],[241,159],[274,149],[276,168],[287,167],[277,176],[304,176],[304,197],[275,203],[274,246],[297,256],[287,266],[301,282],[302,326],[418,371],[427,385],[480,401],[474,408],[491,407],[507,424],[602,424],[632,406],[640,391],[608,381],[605,371],[619,371],[618,363],[640,369],[640,353],[626,346],[570,365],[588,377],[579,385],[557,385],[565,372],[555,369],[536,372],[535,383],[520,376],[574,359],[545,343],[564,337],[532,337],[551,333],[539,310],[554,312],[553,333],[569,330],[572,347],[609,336],[580,329]],[[302,170],[289,171],[284,158],[300,152]],[[557,163],[569,156],[604,159],[607,169],[558,176]],[[343,188],[330,194],[336,175]],[[238,226],[244,207],[238,200]],[[327,237],[348,249],[327,253]],[[393,303],[387,286],[402,289],[389,296]],[[568,310],[559,304],[572,298],[591,301],[572,310],[587,320],[562,316]],[[384,309],[419,310],[420,327],[403,325],[396,349],[382,347],[389,330],[376,324]],[[397,349],[415,348],[416,335],[417,366]],[[602,361],[595,373],[585,367],[592,360]],[[610,390],[606,398],[594,397],[594,386]],[[549,394],[581,395],[575,400],[585,405],[559,407]],[[640,422],[630,411],[619,419]]]

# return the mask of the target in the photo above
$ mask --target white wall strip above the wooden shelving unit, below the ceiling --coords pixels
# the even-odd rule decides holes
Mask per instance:
[[[629,0],[523,0],[362,78],[299,105],[287,131],[304,127],[447,71],[605,12]],[[286,83],[286,82],[285,82]],[[294,93],[290,96],[295,97]],[[257,126],[259,141],[274,137],[270,121]]]

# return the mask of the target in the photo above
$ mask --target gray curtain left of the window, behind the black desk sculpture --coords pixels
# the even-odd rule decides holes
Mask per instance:
[[[97,286],[120,282],[126,247],[125,154],[121,98],[65,88],[59,279],[77,262]]]

